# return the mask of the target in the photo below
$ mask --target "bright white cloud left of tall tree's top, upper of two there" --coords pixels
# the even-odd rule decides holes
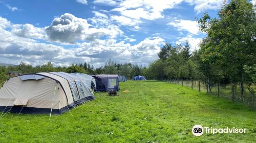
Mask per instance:
[[[186,30],[191,34],[199,34],[199,25],[197,21],[191,20],[174,20],[175,22],[169,22],[167,25],[178,28],[179,31]]]

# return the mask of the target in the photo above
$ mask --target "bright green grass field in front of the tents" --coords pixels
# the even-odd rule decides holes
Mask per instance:
[[[9,113],[0,119],[0,142],[256,142],[256,112],[243,104],[166,82],[119,84],[120,96],[97,93],[71,110],[74,118]],[[196,124],[247,132],[197,137]]]

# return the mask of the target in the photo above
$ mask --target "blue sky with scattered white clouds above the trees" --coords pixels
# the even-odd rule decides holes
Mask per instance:
[[[111,59],[148,65],[164,43],[206,36],[196,17],[216,17],[222,0],[0,0],[0,63],[54,66]]]

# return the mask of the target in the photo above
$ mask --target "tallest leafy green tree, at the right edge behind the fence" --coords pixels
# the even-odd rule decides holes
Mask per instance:
[[[255,63],[256,18],[255,7],[245,0],[232,0],[210,19],[205,13],[199,19],[200,29],[207,32],[202,58],[212,65],[221,65],[232,82],[240,83],[243,96],[244,65]]]

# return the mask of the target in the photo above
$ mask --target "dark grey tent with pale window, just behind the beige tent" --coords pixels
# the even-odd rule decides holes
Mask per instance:
[[[118,75],[91,75],[96,80],[97,91],[119,91]]]

